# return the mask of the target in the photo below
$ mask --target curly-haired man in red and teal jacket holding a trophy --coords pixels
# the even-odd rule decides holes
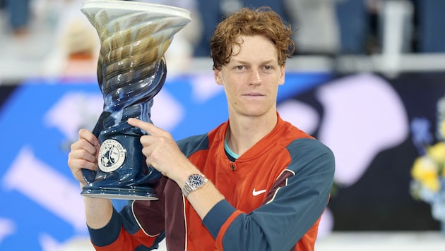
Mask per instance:
[[[229,119],[204,135],[174,142],[170,133],[130,118],[147,164],[163,174],[158,201],[134,201],[121,212],[109,200],[85,197],[97,250],[314,250],[333,183],[328,147],[283,121],[276,110],[292,30],[270,8],[242,8],[210,41],[215,81]],[[97,138],[79,131],[69,166],[97,168]],[[148,249],[145,247],[149,247]]]

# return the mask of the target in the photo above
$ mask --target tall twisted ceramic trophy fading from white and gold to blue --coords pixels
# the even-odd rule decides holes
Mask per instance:
[[[161,174],[146,164],[139,141],[146,132],[127,123],[150,120],[153,97],[165,82],[165,51],[190,22],[189,11],[134,1],[85,0],[81,11],[100,37],[97,80],[104,106],[93,133],[100,141],[97,171],[82,169],[81,195],[158,200]]]

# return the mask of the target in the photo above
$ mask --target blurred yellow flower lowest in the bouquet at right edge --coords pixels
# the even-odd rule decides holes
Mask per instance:
[[[415,159],[411,175],[429,190],[439,191],[439,170],[432,158],[423,156]]]

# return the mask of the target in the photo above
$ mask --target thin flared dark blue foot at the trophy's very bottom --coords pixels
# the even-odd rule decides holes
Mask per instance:
[[[101,199],[159,200],[152,188],[84,188],[81,195]]]

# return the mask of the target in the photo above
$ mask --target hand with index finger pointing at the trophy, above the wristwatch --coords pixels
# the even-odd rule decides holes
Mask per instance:
[[[196,169],[182,154],[170,133],[136,118],[129,118],[128,123],[149,134],[141,137],[142,153],[146,156],[146,163],[162,175],[182,184],[184,177],[188,176],[187,171]]]

